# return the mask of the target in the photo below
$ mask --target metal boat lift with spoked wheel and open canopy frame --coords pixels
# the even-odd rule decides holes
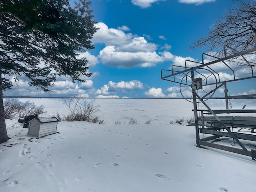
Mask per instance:
[[[232,53],[232,54],[228,54]],[[230,98],[254,98],[256,94],[242,95],[242,96],[228,96],[227,83],[236,82],[241,80],[248,80],[256,78],[254,75],[254,70],[256,71],[256,66],[253,64],[255,62],[256,48],[246,50],[243,52],[238,52],[229,46],[224,46],[224,57],[218,58],[216,56],[211,56],[210,54],[202,54],[202,62],[196,62],[192,60],[186,60],[184,66],[172,65],[171,70],[161,70],[161,79],[170,82],[175,82],[180,84],[180,93],[184,99],[189,102],[194,103],[194,125],[196,127],[196,145],[209,146],[212,148],[218,148],[221,150],[226,150],[238,154],[243,154],[246,156],[251,156],[253,160],[256,160],[256,150],[248,150],[239,139],[256,141],[256,134],[238,134],[231,131],[231,127],[248,127],[256,129],[256,121],[250,122],[248,125],[246,122],[248,120],[242,118],[243,124],[233,124],[230,121],[230,125],[227,124],[220,116],[217,114],[230,114],[230,113],[256,113],[255,110],[232,110],[228,109],[228,100]],[[254,55],[254,61],[250,60],[250,56]],[[205,62],[212,58],[212,60]],[[244,64],[244,68],[240,70],[245,70],[244,76],[241,76],[238,71],[234,70],[235,65]],[[227,78],[223,78],[221,73],[225,72]],[[244,71],[245,72],[245,71]],[[256,85],[256,83],[254,84]],[[226,109],[224,110],[212,110],[207,104],[206,100],[211,98],[213,94],[224,86]],[[192,93],[190,92],[192,90]],[[190,92],[190,97],[188,93]],[[199,110],[197,108],[197,103],[202,103],[207,108],[207,110]],[[201,112],[201,116],[198,116],[198,112]],[[213,122],[207,122],[210,126],[205,126],[204,114],[211,114],[214,116]],[[232,116],[231,116],[232,117]],[[256,120],[256,119],[255,119]],[[221,130],[224,131],[221,131]],[[213,136],[208,136],[207,138],[200,138],[200,133],[212,134]],[[213,142],[208,142],[222,136],[231,137],[236,141],[240,148],[224,146],[220,144],[215,144]]]

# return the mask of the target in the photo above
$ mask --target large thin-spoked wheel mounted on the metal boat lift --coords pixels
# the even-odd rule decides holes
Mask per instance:
[[[192,73],[194,74],[193,80]],[[204,68],[198,68],[186,73],[180,82],[180,93],[189,102],[194,102],[192,90],[195,90],[200,98],[206,101],[213,96],[216,88],[216,76],[212,71]],[[197,100],[196,102],[200,103],[202,101]]]

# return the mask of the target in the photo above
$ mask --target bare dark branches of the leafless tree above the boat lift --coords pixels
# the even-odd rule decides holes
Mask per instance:
[[[193,48],[204,47],[206,51],[222,53],[227,45],[237,51],[255,47],[256,34],[256,1],[233,0],[238,4],[229,8],[219,20],[211,26],[208,36],[198,38]]]

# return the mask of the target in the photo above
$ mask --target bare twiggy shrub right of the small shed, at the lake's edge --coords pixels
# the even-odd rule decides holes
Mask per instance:
[[[76,96],[74,98],[62,98],[62,103],[68,106],[70,114],[63,117],[66,121],[87,121],[92,123],[104,124],[96,113],[100,111],[100,105],[95,104],[95,100],[84,100]]]

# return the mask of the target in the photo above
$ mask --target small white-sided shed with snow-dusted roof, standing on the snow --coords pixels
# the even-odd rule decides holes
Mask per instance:
[[[56,117],[36,117],[30,120],[28,135],[42,137],[57,132],[58,119]]]

